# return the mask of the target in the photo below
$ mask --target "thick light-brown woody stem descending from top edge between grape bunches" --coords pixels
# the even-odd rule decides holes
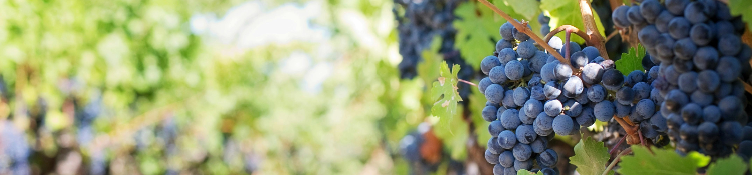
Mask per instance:
[[[586,40],[590,41],[588,46],[596,47],[601,57],[608,60],[608,52],[606,52],[606,43],[601,36],[601,32],[598,31],[596,26],[596,20],[593,18],[593,11],[590,9],[590,1],[580,1],[580,14],[582,15],[582,23],[585,26],[585,33],[590,36]]]

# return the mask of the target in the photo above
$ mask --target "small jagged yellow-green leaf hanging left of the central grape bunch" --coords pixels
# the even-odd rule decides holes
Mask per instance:
[[[447,62],[441,62],[441,68],[439,68],[438,81],[433,83],[431,89],[431,99],[436,101],[431,107],[431,116],[437,116],[439,118],[443,116],[456,116],[457,102],[462,101],[457,92],[457,74],[459,73],[459,65],[454,65],[452,71],[449,71]],[[441,98],[444,96],[444,98]]]

